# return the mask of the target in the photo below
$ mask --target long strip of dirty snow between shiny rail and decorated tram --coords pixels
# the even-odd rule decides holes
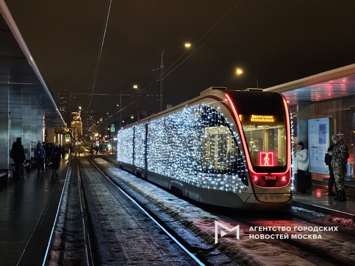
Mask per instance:
[[[103,159],[94,161],[105,168],[107,174],[113,179],[126,183],[136,192],[159,206],[165,213],[180,221],[196,235],[205,239],[209,244],[214,245],[215,221],[223,223],[229,228],[235,227],[235,222],[228,222],[217,216],[206,212],[187,201],[150,184],[130,173],[120,170]],[[309,261],[293,254],[292,251],[279,247],[278,240],[250,239],[250,234],[263,234],[262,232],[249,232],[250,227],[239,224],[240,240],[233,234],[228,233],[220,238],[215,248],[235,259],[241,265],[313,265]],[[219,230],[220,232],[220,230]]]

